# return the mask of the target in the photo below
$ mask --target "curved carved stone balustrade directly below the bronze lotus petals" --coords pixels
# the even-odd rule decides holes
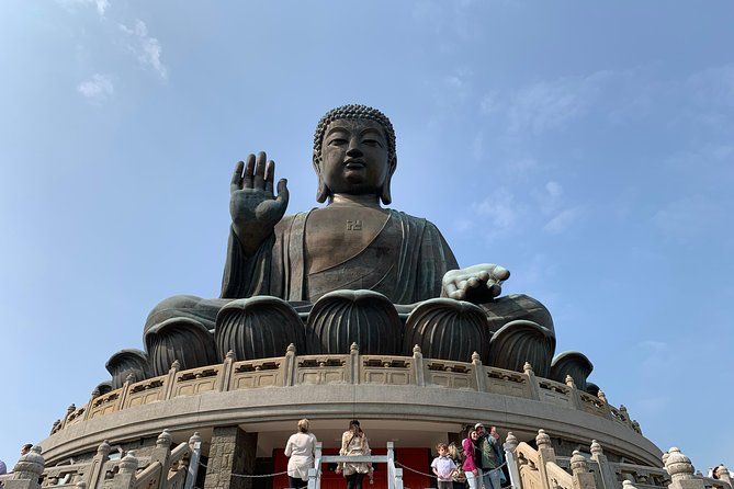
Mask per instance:
[[[230,352],[222,364],[179,368],[179,363],[173,362],[166,375],[140,382],[129,375],[121,388],[103,395],[94,393],[84,406],[71,405],[61,421],[54,424],[52,434],[84,420],[177,397],[323,384],[414,385],[512,396],[585,411],[640,432],[626,409],[610,406],[603,393],[595,397],[581,391],[571,377],[565,384],[535,377],[527,363],[523,372],[485,366],[476,353],[471,362],[453,362],[425,359],[417,346],[413,356],[388,356],[362,355],[355,344],[345,355],[296,355],[291,345],[285,356],[236,361]]]

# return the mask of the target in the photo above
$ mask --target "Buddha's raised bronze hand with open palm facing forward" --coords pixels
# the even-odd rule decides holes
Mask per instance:
[[[283,218],[287,207],[287,181],[278,181],[278,196],[273,195],[275,163],[266,163],[267,156],[248,155],[247,164],[239,161],[229,185],[232,228],[245,253],[252,255]]]

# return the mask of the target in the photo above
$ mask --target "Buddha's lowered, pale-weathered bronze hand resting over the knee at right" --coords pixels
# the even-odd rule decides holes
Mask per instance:
[[[501,284],[509,276],[509,270],[493,263],[450,270],[443,275],[441,297],[474,304],[489,303],[502,293]]]

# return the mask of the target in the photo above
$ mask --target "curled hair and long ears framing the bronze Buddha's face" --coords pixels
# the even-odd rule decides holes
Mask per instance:
[[[324,183],[324,180],[321,179],[318,163],[321,160],[321,144],[324,143],[324,135],[326,134],[326,129],[334,121],[340,120],[374,121],[380,124],[385,132],[385,139],[387,140],[387,163],[389,164],[389,171],[387,173],[387,178],[385,179],[385,183],[382,186],[380,198],[382,200],[383,204],[389,204],[393,202],[393,197],[389,193],[389,182],[393,178],[393,172],[397,167],[397,153],[395,152],[395,129],[393,129],[393,123],[389,122],[389,118],[387,118],[385,114],[376,109],[361,104],[349,104],[331,109],[329,112],[324,114],[321,120],[318,122],[318,125],[316,126],[316,132],[314,133],[314,169],[318,175],[318,191],[316,192],[316,200],[318,202],[326,202],[326,200],[331,196],[331,190],[326,186],[326,183]]]

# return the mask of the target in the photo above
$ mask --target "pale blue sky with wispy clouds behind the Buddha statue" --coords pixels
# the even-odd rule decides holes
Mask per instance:
[[[142,348],[150,308],[218,293],[237,159],[289,212],[310,141],[366,103],[393,207],[554,316],[558,351],[645,435],[734,466],[734,4],[0,4],[0,458]]]

